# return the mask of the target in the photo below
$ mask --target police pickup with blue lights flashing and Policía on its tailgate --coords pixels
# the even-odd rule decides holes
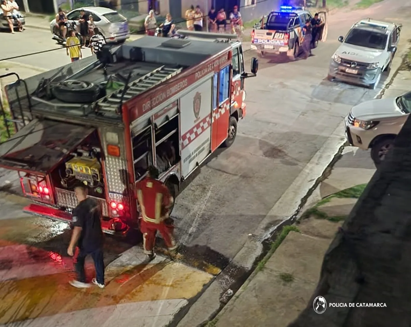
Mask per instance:
[[[324,25],[317,33],[315,46],[318,40],[325,41],[327,35],[327,16],[320,12],[319,17]],[[302,27],[305,21],[312,20],[313,16],[303,7],[281,6],[280,10],[263,16],[260,23],[254,25],[251,33],[251,48],[257,50],[258,55],[276,55],[286,53],[294,60],[300,54],[302,43]]]

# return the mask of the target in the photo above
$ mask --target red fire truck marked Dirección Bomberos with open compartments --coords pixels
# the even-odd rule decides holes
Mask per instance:
[[[0,166],[18,172],[34,202],[25,212],[70,222],[83,182],[102,205],[104,231],[124,232],[137,221],[134,185],[149,165],[176,196],[212,152],[231,145],[258,61],[246,73],[233,35],[190,33],[104,46],[98,60],[6,86],[16,134],[0,145]]]

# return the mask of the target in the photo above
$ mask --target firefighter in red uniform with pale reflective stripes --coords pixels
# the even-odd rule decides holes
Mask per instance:
[[[140,230],[143,233],[143,249],[150,260],[155,258],[154,245],[157,230],[171,253],[177,249],[173,236],[173,220],[169,217],[169,209],[173,205],[174,199],[169,189],[157,180],[158,177],[157,168],[150,166],[148,177],[136,185],[136,195],[141,213]]]

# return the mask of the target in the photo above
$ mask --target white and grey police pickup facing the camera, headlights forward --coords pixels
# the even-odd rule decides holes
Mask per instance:
[[[397,51],[402,25],[374,21],[355,23],[330,60],[328,79],[366,85],[375,89],[383,71],[387,71]]]

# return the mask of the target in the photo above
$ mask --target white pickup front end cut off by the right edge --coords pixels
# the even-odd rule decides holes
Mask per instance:
[[[348,142],[363,150],[371,149],[376,166],[393,148],[395,137],[411,113],[411,92],[396,98],[374,99],[354,106],[345,117]]]

